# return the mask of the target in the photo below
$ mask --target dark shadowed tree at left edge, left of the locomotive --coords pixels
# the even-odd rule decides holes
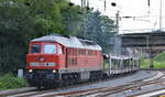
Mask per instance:
[[[24,64],[24,39],[33,23],[21,0],[1,0],[0,12],[0,71],[14,72]]]

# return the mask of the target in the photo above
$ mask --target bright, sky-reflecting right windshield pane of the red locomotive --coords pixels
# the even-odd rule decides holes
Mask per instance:
[[[45,44],[44,45],[44,53],[47,53],[47,54],[56,53],[56,46],[54,44]]]

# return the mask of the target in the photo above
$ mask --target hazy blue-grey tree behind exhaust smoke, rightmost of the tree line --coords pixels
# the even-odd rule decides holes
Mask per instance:
[[[101,15],[99,11],[88,12],[84,19],[82,28],[80,36],[97,42],[103,52],[109,52],[110,37],[114,32],[114,23],[111,19]]]

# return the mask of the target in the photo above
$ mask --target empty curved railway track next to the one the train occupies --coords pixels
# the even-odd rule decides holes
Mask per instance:
[[[118,94],[124,90],[135,90],[135,89],[141,89],[141,87],[143,86],[147,86],[147,85],[153,85],[153,84],[160,84],[165,82],[165,78],[155,78],[154,80],[145,80],[145,82],[133,82],[131,84],[127,84],[127,85],[122,85],[122,86],[117,86],[117,87],[105,87],[105,88],[97,88],[94,90],[86,90],[86,91],[74,91],[74,93],[67,93],[67,94],[57,94],[57,95],[52,95],[52,97],[54,96],[68,96],[68,97],[106,97],[106,96],[110,96],[113,94]]]

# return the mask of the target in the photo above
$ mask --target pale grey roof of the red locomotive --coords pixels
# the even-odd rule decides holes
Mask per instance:
[[[67,47],[101,51],[101,46],[99,46],[94,41],[82,40],[82,39],[78,39],[76,36],[66,37],[66,36],[62,36],[62,35],[45,35],[42,37],[34,39],[31,42],[57,42]]]

